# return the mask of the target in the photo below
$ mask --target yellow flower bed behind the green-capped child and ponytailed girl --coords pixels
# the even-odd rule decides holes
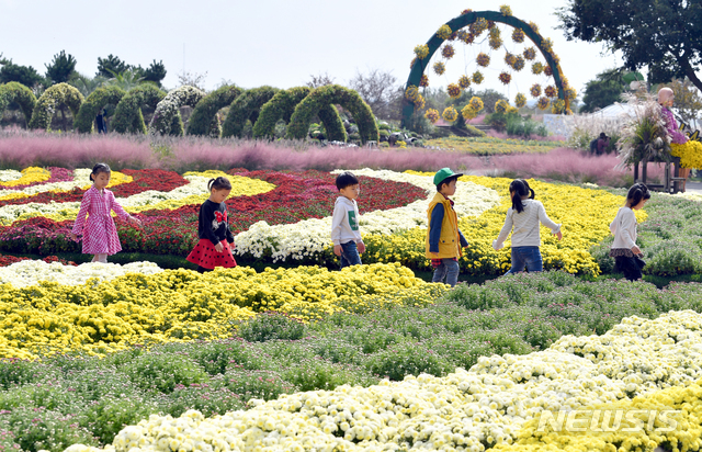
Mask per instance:
[[[412,174],[433,176],[429,172],[407,171]],[[492,249],[492,240],[499,235],[507,211],[511,207],[509,184],[511,179],[463,176],[461,181],[474,182],[496,190],[501,203],[478,217],[464,217],[458,221],[461,231],[468,240],[464,256],[460,259],[462,271],[468,274],[499,274],[510,268],[511,248],[506,246],[499,251]],[[589,252],[591,246],[599,244],[609,234],[609,225],[616,216],[624,197],[603,190],[581,189],[573,185],[529,180],[536,192],[536,200],[543,202],[546,213],[556,223],[562,223],[563,240],[558,241],[551,230],[541,229],[541,256],[544,269],[563,269],[569,273],[597,275],[600,268]],[[646,213],[636,211],[639,222],[646,219]],[[407,265],[430,269],[424,257],[427,229],[415,228],[393,235],[366,235],[363,241],[371,250],[370,257],[381,262],[403,262]],[[509,241],[509,239],[508,239]],[[378,250],[378,251],[374,251]]]

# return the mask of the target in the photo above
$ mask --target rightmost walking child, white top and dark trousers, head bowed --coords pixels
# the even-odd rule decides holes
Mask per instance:
[[[642,256],[642,252],[636,246],[636,215],[634,215],[634,211],[642,208],[648,199],[650,199],[648,188],[641,182],[635,183],[629,189],[626,204],[619,208],[614,221],[610,224],[610,230],[614,235],[610,256],[614,258],[616,267],[629,281],[642,278],[642,268],[635,258],[635,256]]]

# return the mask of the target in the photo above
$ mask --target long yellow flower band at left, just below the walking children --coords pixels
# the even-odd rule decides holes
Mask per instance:
[[[228,337],[256,312],[303,320],[333,312],[363,313],[387,305],[426,306],[446,286],[415,278],[399,264],[359,265],[340,272],[317,267],[217,269],[201,275],[166,270],[68,286],[0,286],[0,358],[82,351],[134,343]]]

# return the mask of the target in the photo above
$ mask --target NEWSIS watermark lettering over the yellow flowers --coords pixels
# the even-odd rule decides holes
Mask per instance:
[[[624,433],[647,431],[666,433],[678,427],[675,416],[678,409],[573,409],[541,411],[536,431],[545,432],[546,426],[553,431]],[[625,421],[623,423],[622,421]]]

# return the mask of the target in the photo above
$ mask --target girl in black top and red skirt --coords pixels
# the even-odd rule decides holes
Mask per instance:
[[[231,183],[229,179],[219,177],[210,179],[207,188],[210,199],[202,204],[197,216],[200,241],[186,258],[190,262],[197,264],[200,273],[212,271],[215,267],[237,265],[231,256],[231,250],[235,248],[234,235],[229,230],[227,207],[224,203],[231,192]]]

